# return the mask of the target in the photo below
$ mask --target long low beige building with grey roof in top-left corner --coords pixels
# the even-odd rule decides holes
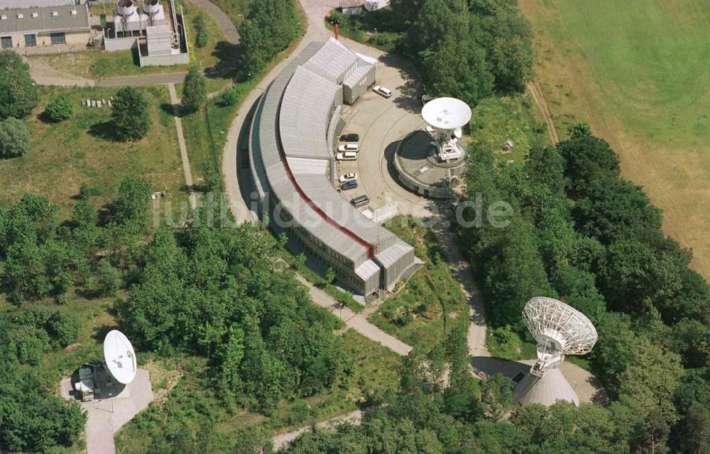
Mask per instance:
[[[4,49],[87,45],[90,39],[86,5],[0,9],[0,45]]]

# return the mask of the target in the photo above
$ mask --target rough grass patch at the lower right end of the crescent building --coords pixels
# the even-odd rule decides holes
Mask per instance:
[[[468,302],[459,282],[439,251],[434,233],[397,217],[386,224],[395,235],[415,247],[425,262],[405,287],[387,299],[370,316],[370,321],[401,341],[425,353],[458,323],[468,327]]]

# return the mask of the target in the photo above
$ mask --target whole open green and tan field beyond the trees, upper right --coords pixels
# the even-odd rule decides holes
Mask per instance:
[[[520,8],[561,137],[574,121],[589,122],[710,278],[709,1],[521,0]]]

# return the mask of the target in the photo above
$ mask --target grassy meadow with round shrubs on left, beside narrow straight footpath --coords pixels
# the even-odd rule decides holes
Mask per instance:
[[[80,99],[109,99],[116,89],[45,88],[40,106],[25,123],[31,133],[31,148],[22,157],[0,160],[0,202],[19,199],[32,192],[48,196],[60,206],[60,217],[69,217],[72,196],[82,182],[97,190],[96,204],[114,199],[116,187],[125,175],[136,175],[153,183],[156,191],[168,194],[166,201],[179,206],[187,200],[182,192],[182,175],[175,122],[161,105],[170,103],[168,89],[140,89],[150,106],[151,129],[138,142],[121,143],[111,138],[111,111],[80,106]],[[76,102],[75,117],[61,123],[40,118],[51,96],[65,93]]]

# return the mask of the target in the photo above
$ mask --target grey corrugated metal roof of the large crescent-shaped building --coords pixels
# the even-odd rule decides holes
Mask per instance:
[[[342,89],[335,81],[357,60],[334,40],[308,45],[263,95],[251,148],[254,159],[261,160],[253,164],[255,174],[264,179],[258,184],[268,184],[295,223],[316,241],[353,260],[357,275],[368,279],[379,272],[379,265],[368,260],[366,243],[379,249],[374,252],[385,267],[413,248],[351,206],[327,177],[333,159],[327,131]],[[362,61],[359,64],[364,65],[363,74],[371,68]]]

